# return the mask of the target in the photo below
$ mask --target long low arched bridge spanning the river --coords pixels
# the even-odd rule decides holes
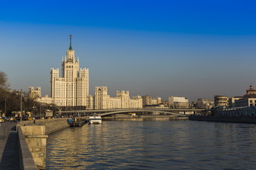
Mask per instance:
[[[196,108],[126,108],[126,109],[101,109],[85,111],[57,111],[60,115],[114,115],[118,113],[161,113],[165,115],[188,116],[194,113],[206,111],[206,109]]]

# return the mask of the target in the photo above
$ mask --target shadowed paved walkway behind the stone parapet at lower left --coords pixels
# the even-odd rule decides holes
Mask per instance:
[[[16,123],[0,123],[0,169],[18,170],[18,133]]]

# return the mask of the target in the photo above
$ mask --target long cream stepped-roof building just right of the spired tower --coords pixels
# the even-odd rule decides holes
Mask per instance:
[[[117,91],[116,97],[107,94],[107,86],[95,87],[95,109],[142,108],[142,97],[129,97],[129,91]]]

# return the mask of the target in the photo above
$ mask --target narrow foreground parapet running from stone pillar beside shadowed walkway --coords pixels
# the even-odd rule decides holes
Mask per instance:
[[[25,136],[21,130],[21,127],[17,127],[18,130],[18,157],[19,157],[19,169],[21,170],[38,170],[36,163],[33,159]]]

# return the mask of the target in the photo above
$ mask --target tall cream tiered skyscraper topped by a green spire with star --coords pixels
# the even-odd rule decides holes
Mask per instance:
[[[89,69],[80,68],[79,59],[75,60],[75,50],[71,46],[62,60],[61,77],[59,69],[50,69],[50,94],[55,106],[87,106],[89,97]]]

